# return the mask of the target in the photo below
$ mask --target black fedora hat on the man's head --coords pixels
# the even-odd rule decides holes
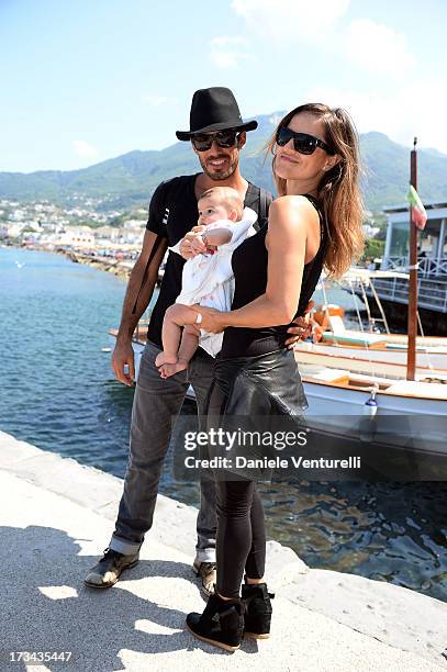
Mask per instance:
[[[188,141],[194,133],[211,133],[225,128],[254,131],[257,121],[244,123],[233,92],[224,87],[199,89],[192,97],[189,131],[176,131],[178,139]]]

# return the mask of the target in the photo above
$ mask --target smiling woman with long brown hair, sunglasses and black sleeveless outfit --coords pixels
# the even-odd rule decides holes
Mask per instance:
[[[209,399],[212,425],[230,415],[303,413],[287,329],[304,313],[322,269],[340,277],[362,249],[358,137],[347,112],[300,105],[281,120],[268,148],[278,199],[268,225],[233,254],[232,310],[197,307],[200,328],[224,331]],[[235,650],[244,634],[270,632],[264,511],[254,479],[216,478],[217,584],[203,614],[189,614],[187,625],[199,639]]]

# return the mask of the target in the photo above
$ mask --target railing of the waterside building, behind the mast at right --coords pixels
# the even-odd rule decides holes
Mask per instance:
[[[402,278],[377,279],[375,288],[381,300],[409,303],[409,282]],[[433,282],[418,278],[417,305],[447,313],[447,282]]]

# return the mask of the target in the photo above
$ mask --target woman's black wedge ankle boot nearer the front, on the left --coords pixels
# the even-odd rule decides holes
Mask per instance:
[[[243,604],[241,600],[222,600],[213,594],[203,614],[188,614],[187,626],[198,639],[236,651],[244,635]]]

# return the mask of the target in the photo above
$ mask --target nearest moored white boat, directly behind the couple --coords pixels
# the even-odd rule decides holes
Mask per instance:
[[[109,332],[113,339],[116,333],[116,329]],[[146,336],[147,321],[144,321],[135,329],[132,339],[136,376]],[[303,358],[300,350],[295,351],[295,359],[309,402],[306,424],[311,428],[338,437],[365,438],[365,421],[368,425],[371,417],[369,403],[373,397],[377,416],[405,418],[402,428],[406,434],[395,432],[392,436],[395,446],[405,446],[410,433],[415,439],[412,446],[414,450],[447,458],[447,440],[442,423],[447,418],[447,384],[390,380],[382,376],[354,372],[347,368],[328,366],[332,361],[327,356],[321,357],[320,361]],[[189,388],[187,396],[194,399],[192,388]],[[421,423],[424,421],[424,436],[421,436]],[[368,435],[367,438],[371,445],[381,443],[380,436]],[[382,439],[382,443],[389,443],[390,437]]]

